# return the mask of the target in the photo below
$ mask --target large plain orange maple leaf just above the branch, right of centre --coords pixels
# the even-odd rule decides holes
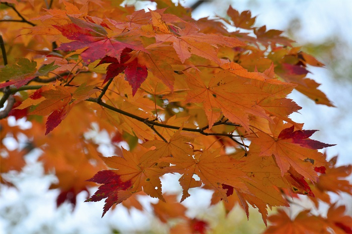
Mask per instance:
[[[187,84],[192,92],[186,98],[187,102],[203,103],[209,122],[209,129],[218,120],[221,113],[232,123],[238,123],[249,131],[248,114],[269,119],[266,112],[256,100],[269,96],[268,93],[247,83],[247,80],[229,71],[220,71],[205,84],[200,74],[186,73]]]

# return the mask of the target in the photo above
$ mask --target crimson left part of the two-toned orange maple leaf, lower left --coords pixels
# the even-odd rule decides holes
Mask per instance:
[[[121,196],[121,197],[124,197],[124,199],[122,200],[121,197],[119,196],[119,192],[121,190],[127,190],[129,187],[132,186],[131,181],[128,180],[123,182],[120,179],[120,176],[114,172],[114,170],[99,171],[95,176],[93,176],[91,179],[87,181],[104,184],[98,188],[98,191],[95,192],[90,199],[85,200],[86,202],[100,201],[104,198],[107,198],[105,200],[102,217],[111,208],[113,204],[121,203],[123,200],[126,200],[128,198],[125,196]]]

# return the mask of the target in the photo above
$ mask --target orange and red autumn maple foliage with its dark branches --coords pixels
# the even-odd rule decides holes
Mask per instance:
[[[290,118],[301,108],[287,97],[294,89],[333,106],[307,77],[308,65],[323,64],[282,31],[254,27],[249,11],[232,7],[227,18],[194,20],[171,1],[154,11],[118,1],[0,2],[2,173],[21,170],[23,155],[39,148],[58,178],[50,187],[60,190],[57,205],[75,204],[98,183],[86,201],[105,199],[103,216],[120,203],[142,209],[135,194],[146,194],[159,199],[152,207],[162,222],[181,219],[170,231],[204,233],[209,223],[182,205],[202,187],[227,210],[257,208],[272,223],[268,233],[352,232],[327,194],[351,193],[343,179],[351,165],[327,162],[318,150],[333,145]],[[10,126],[7,116],[32,128]],[[115,156],[101,156],[84,135],[92,123],[109,133]],[[8,150],[3,140],[20,134],[31,147]],[[168,173],[181,175],[179,200],[162,191]],[[268,218],[268,208],[289,206],[296,194],[330,204],[327,217],[305,210],[292,220],[279,209]]]

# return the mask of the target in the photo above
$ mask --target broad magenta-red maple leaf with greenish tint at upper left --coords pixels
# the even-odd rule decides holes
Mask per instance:
[[[57,50],[72,51],[88,47],[81,53],[84,62],[94,62],[105,56],[120,61],[120,55],[125,48],[145,51],[136,38],[125,38],[123,35],[110,38],[108,32],[100,25],[69,18],[72,23],[53,26],[67,39],[75,41],[61,44]]]

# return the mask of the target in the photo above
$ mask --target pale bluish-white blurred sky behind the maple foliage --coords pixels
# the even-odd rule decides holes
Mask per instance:
[[[186,1],[191,6],[195,1]],[[331,34],[339,35],[345,41],[346,48],[341,49],[341,56],[352,56],[352,1],[232,1],[232,7],[239,11],[251,10],[252,16],[257,16],[256,26],[266,25],[267,29],[284,30],[294,17],[302,21],[299,32],[294,40],[303,45],[308,42],[321,42]],[[224,16],[227,5],[231,1],[214,0],[204,3],[194,12],[195,18],[217,15]],[[325,58],[326,59],[326,58]],[[323,63],[324,58],[320,58]],[[350,66],[350,65],[349,65]],[[292,115],[292,119],[305,123],[306,130],[320,130],[312,138],[328,144],[337,144],[327,149],[332,157],[339,155],[338,164],[352,163],[352,79],[332,79],[332,73],[324,68],[309,69],[313,78],[322,83],[320,89],[333,101],[337,108],[316,105],[313,101],[298,92],[290,97],[303,108],[300,114]],[[348,75],[348,74],[347,74]],[[350,75],[350,74],[349,74]],[[101,218],[104,202],[84,202],[86,194],[77,197],[76,208],[71,213],[71,206],[64,204],[56,208],[55,199],[58,191],[48,191],[54,176],[43,176],[40,164],[30,161],[30,165],[19,175],[13,175],[18,186],[0,189],[0,233],[110,233],[116,228],[123,233],[143,232],[154,225],[152,214],[147,210],[128,212],[121,206],[114,211],[108,211]],[[164,190],[181,187],[178,178],[167,179]],[[191,216],[195,216],[208,205],[210,193],[199,193],[193,190],[193,195],[186,199],[184,205],[192,206]],[[95,190],[91,191],[94,193]],[[203,198],[203,199],[201,199]],[[350,197],[345,202],[350,202]],[[197,207],[197,209],[195,209]],[[349,206],[349,211],[351,210]]]

